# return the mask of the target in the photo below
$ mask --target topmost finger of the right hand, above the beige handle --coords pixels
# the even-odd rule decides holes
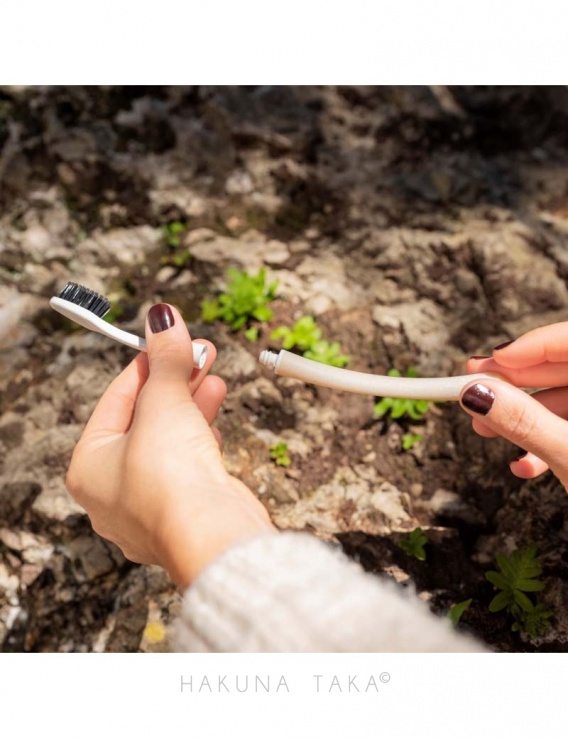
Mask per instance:
[[[534,364],[568,362],[568,322],[535,328],[520,338],[493,349],[500,366],[520,369]]]

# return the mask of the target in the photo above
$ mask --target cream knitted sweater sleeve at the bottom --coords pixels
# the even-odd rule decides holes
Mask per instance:
[[[305,533],[235,546],[185,593],[177,646],[192,652],[484,651],[416,596]]]

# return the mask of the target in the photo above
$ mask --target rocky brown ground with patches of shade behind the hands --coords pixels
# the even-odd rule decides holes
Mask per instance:
[[[165,650],[179,608],[66,493],[81,429],[132,356],[49,308],[68,279],[128,329],[165,300],[216,343],[227,464],[279,527],[413,582],[442,615],[473,598],[460,627],[496,650],[568,650],[568,497],[552,476],[513,478],[516,450],[475,436],[455,403],[388,422],[376,398],[257,361],[306,314],[350,368],[424,376],[567,319],[567,131],[564,88],[0,90],[1,650]],[[278,280],[256,343],[201,321],[230,265]],[[404,451],[407,432],[422,440]],[[397,545],[418,526],[423,562]],[[554,612],[539,638],[489,612],[484,576],[533,543]]]

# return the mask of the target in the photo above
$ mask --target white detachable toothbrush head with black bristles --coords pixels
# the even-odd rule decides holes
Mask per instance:
[[[82,325],[90,331],[102,333],[103,336],[123,343],[138,351],[148,351],[146,341],[134,333],[117,328],[103,320],[110,310],[110,302],[97,292],[83,287],[75,282],[67,282],[65,287],[57,295],[52,297],[49,304],[58,313],[64,315],[75,323]],[[193,363],[198,369],[202,369],[207,359],[207,346],[193,344]]]

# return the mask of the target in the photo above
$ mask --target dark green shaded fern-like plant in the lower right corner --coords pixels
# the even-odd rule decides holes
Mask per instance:
[[[489,603],[489,610],[507,610],[514,619],[511,627],[514,631],[525,631],[533,638],[542,635],[554,613],[546,610],[543,604],[533,602],[526,594],[541,592],[545,586],[538,578],[542,574],[542,566],[536,546],[516,549],[510,556],[497,554],[497,565],[499,571],[485,574],[486,579],[500,590]]]

